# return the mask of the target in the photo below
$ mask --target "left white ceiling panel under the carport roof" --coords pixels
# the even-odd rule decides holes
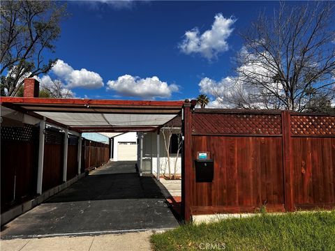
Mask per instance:
[[[110,126],[103,114],[67,113],[67,112],[36,112],[65,126]]]

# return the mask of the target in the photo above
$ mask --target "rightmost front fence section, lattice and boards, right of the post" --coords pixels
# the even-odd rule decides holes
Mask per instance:
[[[296,208],[335,206],[335,116],[291,114]]]

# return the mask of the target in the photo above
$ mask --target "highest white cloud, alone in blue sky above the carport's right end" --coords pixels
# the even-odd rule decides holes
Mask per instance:
[[[185,54],[199,53],[208,60],[215,59],[220,52],[226,52],[229,49],[227,39],[234,30],[232,28],[234,22],[236,22],[234,17],[225,18],[218,13],[214,17],[210,30],[202,34],[198,27],[186,31],[179,49]]]

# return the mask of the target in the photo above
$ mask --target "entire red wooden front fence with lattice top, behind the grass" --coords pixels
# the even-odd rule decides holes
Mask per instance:
[[[184,126],[186,220],[335,206],[335,115],[186,107]],[[195,180],[198,152],[214,160],[212,182]]]

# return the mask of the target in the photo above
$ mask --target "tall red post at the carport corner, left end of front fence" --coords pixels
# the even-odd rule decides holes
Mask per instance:
[[[191,170],[192,170],[192,115],[191,103],[183,106],[184,135],[183,158],[181,165],[181,210],[186,222],[191,220]]]

